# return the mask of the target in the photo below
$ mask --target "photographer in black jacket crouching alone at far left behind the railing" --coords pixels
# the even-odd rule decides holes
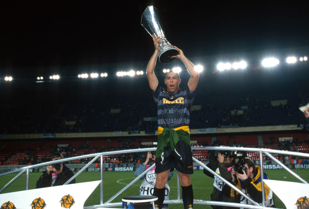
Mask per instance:
[[[63,159],[63,155],[59,152],[50,156],[51,161],[59,159]],[[68,181],[72,176],[74,176],[73,171],[66,167],[62,162],[51,164],[46,167],[46,171],[43,171],[43,174],[36,182],[36,188],[60,186]],[[75,178],[69,184],[73,183],[75,183]]]

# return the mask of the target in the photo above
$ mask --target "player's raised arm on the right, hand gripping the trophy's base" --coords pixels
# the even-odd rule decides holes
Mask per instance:
[[[176,46],[175,46],[175,48],[179,51],[179,54],[176,55],[176,56],[171,56],[171,58],[176,57],[176,58],[180,59],[184,63],[184,65],[186,66],[189,74],[191,75],[191,77],[188,80],[188,87],[189,87],[190,93],[192,93],[192,92],[195,91],[195,89],[197,87],[197,82],[198,82],[198,79],[199,79],[199,74],[195,70],[194,65],[184,55],[183,51],[181,49],[179,49],[178,47],[176,47]]]

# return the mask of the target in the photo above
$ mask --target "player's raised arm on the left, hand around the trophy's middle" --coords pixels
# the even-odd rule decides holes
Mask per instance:
[[[152,91],[155,91],[158,87],[159,81],[157,79],[157,76],[155,75],[155,64],[157,62],[157,57],[159,54],[159,41],[161,40],[161,37],[158,36],[155,38],[154,35],[152,35],[152,39],[154,41],[154,45],[155,45],[155,52],[154,54],[151,56],[148,65],[147,65],[147,78],[148,78],[148,82],[149,82],[149,86],[151,88]]]

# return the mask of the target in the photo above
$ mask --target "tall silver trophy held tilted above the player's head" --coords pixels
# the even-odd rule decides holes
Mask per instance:
[[[148,6],[142,14],[141,25],[146,29],[150,36],[160,36],[159,41],[159,61],[162,63],[170,63],[176,58],[171,56],[178,55],[178,50],[171,45],[165,38],[165,34],[160,26],[158,10],[154,6]]]

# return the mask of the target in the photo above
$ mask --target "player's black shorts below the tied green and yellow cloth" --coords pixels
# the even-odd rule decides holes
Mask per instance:
[[[193,174],[191,146],[181,139],[177,142],[174,151],[171,151],[170,146],[164,147],[163,161],[161,156],[155,158],[155,173],[173,171],[174,168],[183,174]]]

